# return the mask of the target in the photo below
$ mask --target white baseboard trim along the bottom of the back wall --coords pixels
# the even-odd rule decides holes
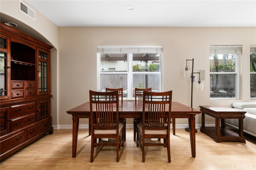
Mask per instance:
[[[205,125],[206,127],[214,127],[215,125]],[[72,125],[52,125],[54,130],[58,130],[58,129],[72,129],[73,126]],[[188,124],[176,124],[175,128],[176,129],[185,129],[186,127],[188,127]],[[200,129],[201,124],[197,124],[196,125],[196,129]],[[88,125],[79,125],[79,129],[89,129]],[[133,124],[126,124],[126,129],[133,129]],[[172,127],[171,127],[172,129]]]

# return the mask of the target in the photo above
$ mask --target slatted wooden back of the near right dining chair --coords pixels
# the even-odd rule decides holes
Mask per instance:
[[[147,120],[147,125],[145,125],[145,129],[167,129],[168,126],[170,126],[172,107],[171,103],[172,91],[143,91],[142,122],[143,124],[145,124],[145,119]],[[167,104],[169,105],[168,110],[166,110]],[[168,114],[166,112],[168,112]],[[166,119],[168,122],[165,122]],[[167,125],[165,123],[167,123]]]

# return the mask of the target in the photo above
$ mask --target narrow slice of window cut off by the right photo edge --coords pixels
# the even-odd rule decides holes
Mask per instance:
[[[250,97],[256,99],[256,45],[250,45]]]

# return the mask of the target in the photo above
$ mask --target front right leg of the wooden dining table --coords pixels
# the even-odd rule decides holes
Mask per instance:
[[[190,118],[188,119],[191,154],[193,158],[196,157],[196,123],[195,123],[196,118],[195,116],[196,115],[190,115]]]

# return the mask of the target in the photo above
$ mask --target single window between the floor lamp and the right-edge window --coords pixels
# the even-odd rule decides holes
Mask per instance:
[[[242,45],[210,46],[210,98],[238,98],[238,59]]]

